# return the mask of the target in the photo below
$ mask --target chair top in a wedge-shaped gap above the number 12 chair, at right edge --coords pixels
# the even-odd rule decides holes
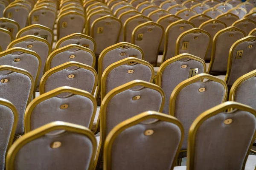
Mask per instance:
[[[246,35],[248,35],[250,31],[256,27],[256,22],[253,20],[250,20],[249,18],[244,18],[244,19],[235,21],[232,24],[232,26],[236,28],[240,28],[241,30],[244,31]]]

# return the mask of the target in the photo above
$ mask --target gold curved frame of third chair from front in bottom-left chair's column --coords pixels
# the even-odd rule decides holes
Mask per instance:
[[[93,73],[93,75],[95,77],[95,80],[94,80],[94,85],[93,85],[93,89],[92,89],[91,94],[94,94],[94,91],[95,91],[95,88],[96,88],[96,85],[97,85],[97,82],[98,82],[98,74],[97,74],[96,70],[94,68],[92,68],[91,66],[89,66],[89,65],[85,65],[85,64],[82,64],[80,62],[70,61],[70,62],[65,62],[64,64],[61,64],[61,65],[58,65],[54,68],[51,68],[51,69],[49,69],[48,71],[45,72],[45,74],[43,75],[43,77],[41,78],[41,81],[40,81],[40,86],[39,86],[40,95],[45,93],[45,91],[44,91],[45,83],[46,83],[47,79],[52,74],[54,74],[58,71],[64,70],[64,69],[66,69],[70,66],[76,66],[76,67],[79,67],[79,68],[83,68],[83,69],[89,70]]]

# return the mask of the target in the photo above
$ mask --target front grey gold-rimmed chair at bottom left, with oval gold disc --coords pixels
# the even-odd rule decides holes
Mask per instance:
[[[45,169],[90,170],[96,149],[96,139],[88,128],[52,122],[26,133],[12,145],[7,154],[6,170],[38,169],[39,164]]]

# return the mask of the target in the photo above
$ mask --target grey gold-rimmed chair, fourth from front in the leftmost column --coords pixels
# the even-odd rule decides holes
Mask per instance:
[[[35,51],[41,58],[41,68],[38,79],[40,80],[42,75],[44,74],[44,67],[47,57],[50,54],[50,45],[47,40],[41,37],[37,37],[34,35],[26,35],[24,37],[18,38],[11,42],[7,49],[13,47],[21,47],[28,50]],[[39,85],[39,84],[38,84]]]

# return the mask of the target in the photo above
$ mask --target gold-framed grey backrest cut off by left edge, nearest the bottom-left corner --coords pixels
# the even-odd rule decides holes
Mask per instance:
[[[0,98],[0,126],[1,126],[1,147],[0,147],[0,169],[5,168],[5,158],[15,135],[18,122],[18,111],[15,106],[6,99]]]

